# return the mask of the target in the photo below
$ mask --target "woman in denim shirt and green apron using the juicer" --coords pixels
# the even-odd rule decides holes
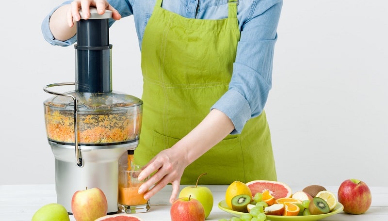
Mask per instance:
[[[53,9],[42,31],[53,45],[75,42],[89,7],[134,16],[142,54],[144,111],[135,162],[148,199],[171,183],[276,180],[263,111],[282,0],[74,0]],[[87,18],[86,16],[85,18]]]

